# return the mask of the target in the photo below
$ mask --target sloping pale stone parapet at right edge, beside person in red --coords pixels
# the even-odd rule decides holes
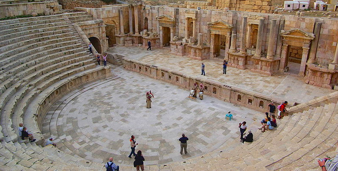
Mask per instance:
[[[310,107],[318,107],[328,103],[337,103],[338,102],[338,91],[324,95],[315,99],[310,100],[309,102],[299,104],[287,109],[289,114],[302,112],[304,110],[309,110]]]

